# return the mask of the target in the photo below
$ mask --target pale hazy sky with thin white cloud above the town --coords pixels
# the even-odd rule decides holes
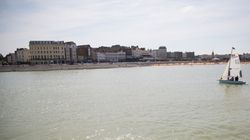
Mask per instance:
[[[250,53],[250,1],[0,0],[0,53],[30,40]]]

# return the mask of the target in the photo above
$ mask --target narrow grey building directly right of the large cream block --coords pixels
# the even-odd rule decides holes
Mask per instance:
[[[74,42],[65,42],[65,60],[66,63],[76,63],[77,62],[77,47]]]

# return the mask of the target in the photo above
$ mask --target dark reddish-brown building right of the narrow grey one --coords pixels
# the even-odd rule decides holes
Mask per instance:
[[[84,62],[92,57],[92,48],[90,45],[79,45],[77,46],[77,61]]]

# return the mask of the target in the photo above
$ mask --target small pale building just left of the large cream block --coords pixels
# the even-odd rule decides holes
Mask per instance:
[[[17,64],[30,62],[30,51],[27,48],[17,48],[15,51]]]

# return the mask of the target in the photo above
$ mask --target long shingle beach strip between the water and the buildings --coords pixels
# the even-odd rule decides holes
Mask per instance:
[[[162,62],[118,62],[118,63],[83,63],[83,64],[48,64],[48,65],[0,65],[0,72],[54,71],[80,69],[110,69],[145,66],[183,66],[183,65],[218,65],[227,62],[192,62],[192,61],[162,61]],[[250,62],[241,62],[250,64]]]

